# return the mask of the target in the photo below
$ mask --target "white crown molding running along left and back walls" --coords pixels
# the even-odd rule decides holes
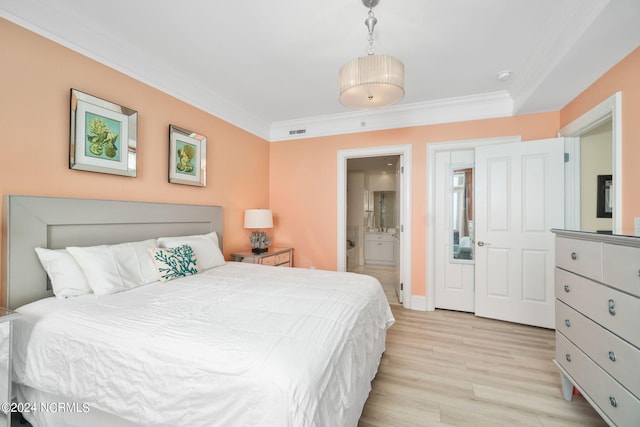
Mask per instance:
[[[124,57],[128,58],[131,64],[141,67],[138,72],[133,71],[135,67],[122,65],[123,61],[116,63],[96,54],[95,52],[100,52],[100,49],[89,51],[82,48],[71,41],[72,37],[52,34],[48,30],[26,22],[6,11],[0,10],[0,16],[270,142],[508,117],[513,114],[513,100],[508,92],[500,91],[402,104],[377,110],[363,110],[268,123],[252,115],[247,110],[231,104],[209,88],[194,84],[171,72],[167,67],[154,63],[151,58],[142,60],[137,52],[131,51],[127,46],[120,46],[122,48],[121,52],[124,52]],[[66,18],[61,17],[61,19]],[[72,28],[71,22],[69,22],[69,25],[69,28]],[[96,38],[93,45],[101,46],[103,43],[102,39]],[[154,77],[149,78],[148,76]]]

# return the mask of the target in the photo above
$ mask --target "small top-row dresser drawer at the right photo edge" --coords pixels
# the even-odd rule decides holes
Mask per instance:
[[[605,243],[603,260],[604,283],[640,297],[640,250]]]

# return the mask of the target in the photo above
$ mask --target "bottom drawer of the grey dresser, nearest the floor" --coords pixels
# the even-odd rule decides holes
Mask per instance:
[[[556,361],[616,425],[640,425],[640,400],[562,334],[556,334]]]

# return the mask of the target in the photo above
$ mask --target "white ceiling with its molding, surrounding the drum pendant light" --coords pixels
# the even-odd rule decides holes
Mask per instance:
[[[361,0],[0,3],[0,16],[270,141],[557,111],[640,46],[638,0],[381,0],[374,48],[404,62],[406,95],[351,111],[337,75],[366,54],[367,12]]]

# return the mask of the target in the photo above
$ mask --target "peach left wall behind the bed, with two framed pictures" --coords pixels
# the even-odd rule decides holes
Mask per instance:
[[[225,254],[248,246],[244,209],[269,205],[267,141],[1,18],[0,52],[2,194],[221,205]],[[69,169],[70,88],[138,111],[136,178]],[[208,137],[205,188],[168,183],[170,124]]]

